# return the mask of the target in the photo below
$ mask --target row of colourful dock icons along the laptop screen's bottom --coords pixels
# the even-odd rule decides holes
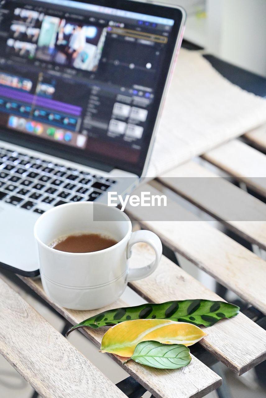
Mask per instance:
[[[20,130],[23,133],[37,135],[44,139],[62,142],[63,144],[76,146],[82,149],[85,148],[87,143],[87,137],[85,135],[74,133],[66,129],[56,129],[51,125],[39,123],[24,117],[17,117],[15,115],[11,115],[8,118],[8,127]]]

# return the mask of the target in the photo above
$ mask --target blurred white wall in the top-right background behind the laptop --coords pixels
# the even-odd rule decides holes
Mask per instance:
[[[190,5],[190,0],[157,0]],[[207,19],[188,18],[186,39],[254,73],[266,76],[266,0],[207,0]]]

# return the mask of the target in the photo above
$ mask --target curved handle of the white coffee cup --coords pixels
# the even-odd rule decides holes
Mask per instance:
[[[127,258],[131,257],[132,246],[139,242],[148,243],[148,245],[153,248],[155,252],[155,260],[142,268],[130,268],[126,277],[126,282],[138,281],[139,279],[143,279],[151,275],[151,273],[153,273],[153,271],[158,267],[162,256],[163,247],[158,236],[151,231],[141,230],[132,232],[127,247]]]

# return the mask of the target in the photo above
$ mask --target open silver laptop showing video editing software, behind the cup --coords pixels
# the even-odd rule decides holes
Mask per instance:
[[[33,226],[146,175],[185,12],[152,1],[0,3],[0,265],[39,275]]]

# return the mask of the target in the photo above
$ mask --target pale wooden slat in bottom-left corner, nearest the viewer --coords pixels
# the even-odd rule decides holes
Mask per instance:
[[[126,397],[0,279],[0,352],[45,398]]]

